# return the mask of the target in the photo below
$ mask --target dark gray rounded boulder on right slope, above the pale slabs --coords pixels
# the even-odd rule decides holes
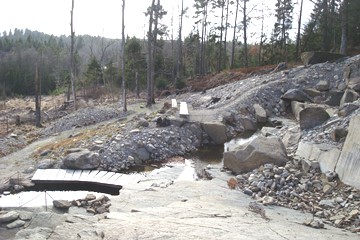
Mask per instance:
[[[322,107],[307,106],[299,112],[301,129],[309,129],[324,123],[330,118],[329,114]]]

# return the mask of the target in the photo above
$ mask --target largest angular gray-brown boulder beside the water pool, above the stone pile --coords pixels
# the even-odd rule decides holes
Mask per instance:
[[[240,174],[266,163],[285,165],[287,154],[284,144],[278,137],[258,136],[247,144],[235,146],[224,152],[223,158],[225,168]]]

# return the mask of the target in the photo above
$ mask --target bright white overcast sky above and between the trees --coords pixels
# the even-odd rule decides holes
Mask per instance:
[[[261,2],[274,8],[276,0],[250,0],[251,4],[261,5]],[[298,2],[299,0],[293,0]],[[0,0],[0,34],[4,31],[9,32],[10,29],[30,29],[44,32],[47,34],[70,35],[70,10],[71,0]],[[162,0],[161,4],[168,12],[163,19],[163,23],[173,26],[174,36],[177,35],[178,16],[180,11],[181,0]],[[183,20],[184,34],[186,36],[192,30],[194,19],[194,0],[184,0],[185,7],[189,7],[187,17]],[[148,18],[144,12],[151,5],[151,0],[126,0],[125,4],[125,35],[143,38]],[[235,7],[232,7],[235,10]],[[298,19],[299,5],[294,9],[293,28],[296,28]],[[313,4],[310,0],[304,0],[304,18],[303,22],[307,22],[312,11]],[[121,11],[122,0],[75,0],[74,6],[74,30],[76,35],[89,34],[92,36],[103,36],[106,38],[121,38]],[[267,11],[273,14],[273,10]],[[215,13],[216,14],[216,13]],[[214,15],[215,15],[214,14]],[[260,13],[253,12],[254,16]],[[234,20],[229,19],[232,24]],[[253,18],[255,19],[255,18]],[[240,21],[240,19],[239,19]],[[265,24],[268,31],[274,26],[274,16],[268,16]],[[253,20],[250,27],[250,35],[259,33],[261,23]],[[232,34],[232,31],[229,31]],[[171,35],[171,31],[169,35]],[[230,33],[229,33],[230,34]],[[293,35],[295,31],[293,32]],[[250,36],[251,37],[251,36]],[[176,37],[174,37],[176,38]],[[256,41],[256,37],[253,38]]]

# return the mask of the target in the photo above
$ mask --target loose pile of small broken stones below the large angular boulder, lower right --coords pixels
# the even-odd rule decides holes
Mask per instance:
[[[325,223],[360,232],[360,191],[345,186],[336,174],[322,174],[318,167],[309,172],[300,161],[284,167],[265,164],[237,175],[242,191],[264,205],[279,205],[312,213]]]

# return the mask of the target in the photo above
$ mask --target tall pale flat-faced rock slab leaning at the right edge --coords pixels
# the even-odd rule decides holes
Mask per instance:
[[[336,173],[341,181],[360,189],[360,116],[350,120],[348,135],[336,165]]]

